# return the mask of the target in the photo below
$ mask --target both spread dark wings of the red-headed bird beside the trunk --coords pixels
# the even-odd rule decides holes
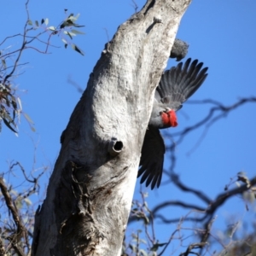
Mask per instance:
[[[192,61],[191,64],[190,62],[191,59],[185,61],[184,65],[180,62],[177,67],[172,67],[163,73],[154,95],[156,106],[163,108],[161,111],[165,111],[166,108],[177,111],[207,78],[208,68],[201,69],[202,62],[198,63],[197,60]],[[149,124],[156,125],[154,122]],[[160,186],[166,151],[164,140],[160,135],[160,127],[154,125],[148,125],[137,175],[137,177],[142,176],[141,183],[146,182],[147,187],[151,184],[151,189]]]

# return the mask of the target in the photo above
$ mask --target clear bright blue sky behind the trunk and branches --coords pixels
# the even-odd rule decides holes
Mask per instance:
[[[22,32],[26,21],[25,1],[3,1],[0,17],[1,40],[6,36]],[[144,1],[138,0],[141,8]],[[131,1],[34,1],[29,4],[31,20],[49,18],[49,26],[64,20],[64,9],[74,14],[80,13],[80,29],[85,35],[74,38],[74,43],[84,50],[85,56],[73,49],[64,49],[60,38],[53,38],[52,44],[60,49],[51,48],[50,55],[40,55],[28,49],[22,61],[28,61],[20,67],[20,76],[15,79],[19,86],[23,109],[35,123],[36,132],[32,132],[25,119],[21,119],[19,137],[5,128],[0,134],[1,172],[8,169],[8,162],[19,160],[27,171],[40,166],[53,168],[60,150],[60,136],[65,129],[73,108],[79,101],[80,94],[68,83],[73,79],[80,87],[85,88],[87,80],[96,61],[99,59],[108,37],[111,39],[117,27],[133,13]],[[256,2],[244,1],[194,1],[183,16],[177,33],[189,43],[187,57],[199,59],[209,67],[209,75],[191,100],[213,99],[230,106],[241,97],[255,96],[255,59],[256,59]],[[107,35],[107,32],[108,35]],[[3,48],[16,48],[18,38],[4,44]],[[36,44],[43,49],[42,44]],[[1,49],[3,49],[1,48]],[[177,65],[170,60],[168,67]],[[23,73],[24,72],[24,73]],[[26,93],[22,92],[26,90]],[[201,120],[208,112],[207,105],[184,104],[179,111],[179,126],[170,132],[182,131],[184,127]],[[203,127],[193,131],[176,148],[177,166],[175,171],[183,183],[195,189],[203,190],[212,199],[224,192],[225,184],[237,172],[247,172],[248,177],[255,176],[256,164],[256,104],[248,103],[236,111],[218,120],[208,130],[201,144],[195,148],[203,132]],[[174,138],[175,140],[175,138]],[[37,145],[36,163],[34,163],[34,145]],[[192,148],[195,150],[188,154]],[[168,157],[166,169],[170,166]],[[50,172],[49,172],[50,173]],[[48,182],[49,173],[42,181],[42,187]],[[164,181],[167,176],[164,177]],[[137,182],[136,198],[139,198]],[[145,188],[143,187],[145,190]],[[149,191],[149,189],[148,189]],[[191,195],[180,192],[172,183],[162,185],[160,189],[150,191],[148,204],[154,207],[165,200],[183,200],[199,203]],[[240,197],[224,204],[218,212],[213,229],[222,229],[229,221],[247,221],[255,218],[255,204],[247,212]],[[187,210],[168,208],[169,218],[186,214]],[[161,241],[168,240],[174,225],[167,226],[157,221],[157,235]],[[133,230],[137,226],[130,229]],[[171,231],[170,231],[171,230]],[[183,248],[177,250],[181,253]],[[169,253],[172,250],[169,251]],[[168,255],[168,253],[166,253]]]

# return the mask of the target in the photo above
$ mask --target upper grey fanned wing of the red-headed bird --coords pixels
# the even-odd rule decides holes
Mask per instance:
[[[180,62],[177,67],[172,67],[163,73],[160,84],[155,90],[155,99],[166,104],[167,108],[178,110],[182,103],[188,100],[195,93],[204,80],[207,78],[208,67],[198,60],[192,61],[189,58],[183,65]]]

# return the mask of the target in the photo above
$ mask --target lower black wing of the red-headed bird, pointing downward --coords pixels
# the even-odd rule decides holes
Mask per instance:
[[[157,188],[160,186],[165,152],[166,147],[160,131],[157,128],[148,127],[137,177],[142,176],[141,183],[146,181],[147,187],[151,183],[151,189],[154,189],[155,185]]]

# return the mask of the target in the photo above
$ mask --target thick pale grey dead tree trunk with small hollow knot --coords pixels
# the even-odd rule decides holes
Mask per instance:
[[[190,1],[148,0],[106,44],[61,136],[32,255],[120,254],[154,89]]]

